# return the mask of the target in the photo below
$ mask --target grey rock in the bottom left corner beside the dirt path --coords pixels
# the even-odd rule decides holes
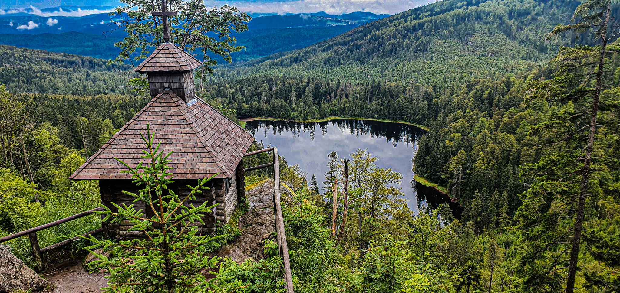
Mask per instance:
[[[0,245],[0,293],[14,291],[40,292],[51,289],[51,282],[24,265],[8,248]]]

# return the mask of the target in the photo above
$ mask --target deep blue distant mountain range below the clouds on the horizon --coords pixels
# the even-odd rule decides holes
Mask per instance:
[[[71,16],[105,9],[112,7],[0,9],[0,44],[110,59],[119,51],[113,43],[126,33],[113,30],[116,27],[107,13]],[[233,60],[249,61],[304,48],[387,16],[371,12],[342,15],[317,12],[254,17],[247,32],[235,34],[237,44],[246,46],[246,50],[234,53]],[[32,36],[24,38],[24,35]]]

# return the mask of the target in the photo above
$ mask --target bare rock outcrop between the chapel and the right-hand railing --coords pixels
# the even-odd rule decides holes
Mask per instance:
[[[290,196],[290,188],[280,183],[280,193]],[[246,186],[246,198],[250,210],[239,219],[241,236],[215,253],[216,256],[229,257],[237,263],[264,259],[265,240],[275,239],[273,179]]]

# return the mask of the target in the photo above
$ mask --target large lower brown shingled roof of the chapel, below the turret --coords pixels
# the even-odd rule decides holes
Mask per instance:
[[[232,178],[254,138],[213,107],[195,98],[185,103],[164,90],[69,177],[73,180],[130,179],[117,157],[134,167],[145,147],[140,133],[149,124],[161,151],[174,151],[169,166],[175,178]]]

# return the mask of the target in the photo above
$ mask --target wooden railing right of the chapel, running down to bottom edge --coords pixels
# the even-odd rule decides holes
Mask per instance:
[[[286,292],[293,293],[293,274],[291,273],[291,261],[288,256],[288,245],[286,244],[286,234],[284,232],[284,217],[282,216],[282,206],[280,205],[280,164],[278,162],[277,147],[269,147],[259,151],[248,152],[244,155],[260,154],[262,152],[273,151],[273,162],[254,167],[244,168],[244,172],[256,170],[259,168],[273,166],[273,211],[275,211],[275,230],[278,235],[278,253],[282,255],[284,260],[284,277],[286,281]]]

